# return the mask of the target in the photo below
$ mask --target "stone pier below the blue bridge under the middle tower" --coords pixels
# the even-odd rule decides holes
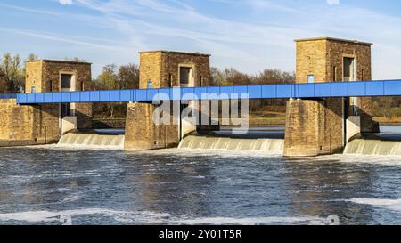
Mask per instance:
[[[153,122],[156,107],[148,103],[128,104],[125,150],[157,150],[178,145],[179,126],[156,125]]]

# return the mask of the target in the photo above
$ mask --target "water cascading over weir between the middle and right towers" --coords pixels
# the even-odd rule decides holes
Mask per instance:
[[[190,135],[180,142],[178,149],[192,150],[255,150],[282,153],[283,139],[240,139]]]

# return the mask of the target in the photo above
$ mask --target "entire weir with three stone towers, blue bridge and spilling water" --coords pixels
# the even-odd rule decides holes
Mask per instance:
[[[391,147],[391,153],[396,153],[397,145],[389,142],[348,144],[356,134],[379,132],[378,124],[372,120],[372,96],[401,95],[401,80],[367,81],[372,80],[372,44],[329,37],[300,39],[296,44],[296,84],[287,85],[210,86],[210,55],[202,53],[140,53],[140,89],[137,90],[94,91],[90,63],[29,61],[26,93],[18,94],[17,100],[11,99],[14,96],[4,96],[0,101],[4,125],[0,129],[0,140],[3,140],[0,146],[7,141],[37,144],[57,142],[61,138],[60,144],[70,145],[120,147],[124,143],[125,150],[177,146],[181,149],[282,150],[284,156],[298,157],[340,153],[344,149],[346,152],[368,150],[364,148],[382,153]],[[174,97],[174,91],[178,91],[178,98]],[[163,100],[160,96],[168,101],[184,101],[180,111],[190,107],[199,112],[200,107],[194,107],[195,100],[227,101],[230,99],[227,94],[243,93],[249,99],[290,99],[284,140],[185,137],[194,131],[216,130],[218,125],[192,125],[183,117],[171,116],[172,112],[168,115],[175,123],[153,122],[158,106],[151,101]],[[129,102],[124,140],[65,134],[90,128],[92,103],[116,101]],[[210,121],[211,117],[208,118]]]

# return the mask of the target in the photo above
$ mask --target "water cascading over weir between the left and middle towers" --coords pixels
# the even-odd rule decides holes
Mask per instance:
[[[124,150],[124,140],[124,135],[65,134],[61,137],[58,146]]]

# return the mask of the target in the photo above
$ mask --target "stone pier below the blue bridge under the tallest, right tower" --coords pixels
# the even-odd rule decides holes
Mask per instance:
[[[284,156],[308,157],[343,149],[342,99],[287,102]]]

